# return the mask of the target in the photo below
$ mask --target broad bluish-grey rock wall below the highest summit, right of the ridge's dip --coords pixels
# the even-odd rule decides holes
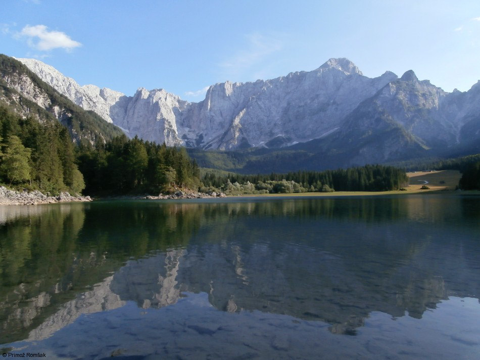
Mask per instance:
[[[215,84],[203,102],[185,112],[180,124],[188,130],[180,137],[221,150],[268,146],[274,139],[282,139],[281,146],[306,142],[334,131],[361,101],[395,78],[387,73],[370,79],[347,59],[330,59],[310,72]]]

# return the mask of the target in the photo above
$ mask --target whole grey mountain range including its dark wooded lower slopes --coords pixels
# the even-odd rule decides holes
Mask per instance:
[[[447,93],[412,70],[369,78],[340,58],[271,80],[217,83],[194,103],[164,89],[126,96],[80,86],[41,61],[18,60],[129,137],[186,146],[201,166],[215,167],[215,158],[241,172],[319,169],[480,152],[480,81]]]

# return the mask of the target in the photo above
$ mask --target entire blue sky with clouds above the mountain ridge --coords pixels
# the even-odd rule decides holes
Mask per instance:
[[[412,69],[467,91],[480,79],[480,1],[3,0],[0,53],[37,58],[80,85],[164,88],[189,101],[216,82],[333,57],[366,76]]]

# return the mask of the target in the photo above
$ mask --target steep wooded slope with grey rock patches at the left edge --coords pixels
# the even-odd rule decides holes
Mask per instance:
[[[76,143],[94,144],[122,134],[117,126],[105,122],[95,112],[85,111],[21,62],[5,55],[0,55],[0,105],[8,106],[24,118],[32,116],[41,123],[60,121]]]

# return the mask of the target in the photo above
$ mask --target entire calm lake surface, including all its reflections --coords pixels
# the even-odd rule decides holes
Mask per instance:
[[[0,207],[0,347],[478,359],[480,197]]]

